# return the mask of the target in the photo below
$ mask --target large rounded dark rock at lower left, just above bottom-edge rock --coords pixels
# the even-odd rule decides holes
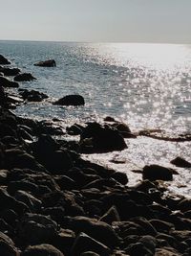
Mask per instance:
[[[19,238],[26,244],[50,243],[57,234],[57,224],[39,214],[27,214],[19,225]]]

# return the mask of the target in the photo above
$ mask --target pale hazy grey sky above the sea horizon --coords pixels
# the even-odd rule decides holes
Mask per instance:
[[[0,0],[0,39],[191,43],[191,0]]]

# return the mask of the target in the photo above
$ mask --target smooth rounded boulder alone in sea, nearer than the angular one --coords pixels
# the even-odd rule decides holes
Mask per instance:
[[[67,95],[56,102],[53,105],[85,105],[84,98],[81,95]]]

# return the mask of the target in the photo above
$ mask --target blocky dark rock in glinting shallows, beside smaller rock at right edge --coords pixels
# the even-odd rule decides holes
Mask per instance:
[[[150,165],[145,166],[143,168],[143,179],[149,179],[149,180],[172,180],[173,179],[173,173],[172,170],[169,168],[165,168],[159,165]]]

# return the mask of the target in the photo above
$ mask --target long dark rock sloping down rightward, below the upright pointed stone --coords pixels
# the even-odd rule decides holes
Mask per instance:
[[[68,225],[74,232],[84,232],[109,248],[114,248],[119,243],[115,230],[103,221],[77,216],[69,218]]]

